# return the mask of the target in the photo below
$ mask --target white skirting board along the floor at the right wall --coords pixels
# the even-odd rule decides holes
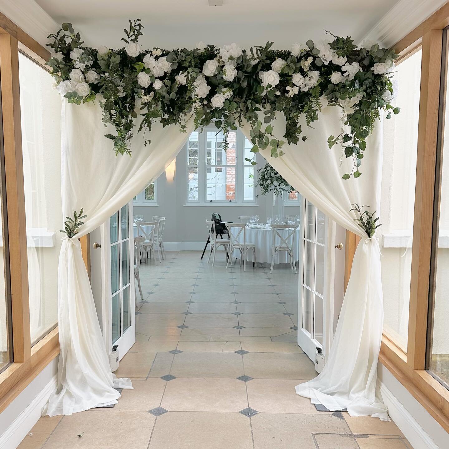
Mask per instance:
[[[423,427],[418,424],[416,419],[383,382],[378,379],[377,385],[382,395],[383,403],[388,407],[390,418],[401,429],[401,432],[414,449],[443,449],[434,443]]]

